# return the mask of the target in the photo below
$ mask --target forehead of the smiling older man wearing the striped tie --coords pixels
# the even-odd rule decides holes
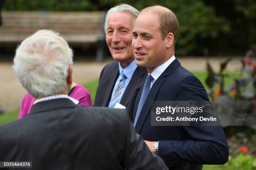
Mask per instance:
[[[114,12],[108,16],[107,28],[131,28],[134,25],[134,16],[128,12]]]

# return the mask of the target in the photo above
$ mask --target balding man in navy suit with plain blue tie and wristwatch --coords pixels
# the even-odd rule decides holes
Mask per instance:
[[[145,100],[141,94],[146,83],[138,92],[133,125],[169,168],[185,169],[188,165],[202,169],[202,164],[224,164],[229,151],[221,126],[151,125],[154,101],[209,101],[202,83],[174,56],[178,29],[174,13],[159,5],[145,8],[135,21],[132,45],[136,64],[146,67],[153,80]],[[140,105],[141,110],[137,110]]]

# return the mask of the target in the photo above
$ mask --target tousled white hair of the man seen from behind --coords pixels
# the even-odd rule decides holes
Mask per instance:
[[[38,30],[16,49],[13,69],[23,87],[33,97],[58,95],[67,89],[73,51],[51,30]]]

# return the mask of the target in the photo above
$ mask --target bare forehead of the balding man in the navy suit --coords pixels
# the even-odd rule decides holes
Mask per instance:
[[[159,17],[154,13],[141,13],[134,23],[134,31],[146,30],[160,32]]]

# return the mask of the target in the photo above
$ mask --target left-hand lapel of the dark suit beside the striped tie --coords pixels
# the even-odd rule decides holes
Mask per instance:
[[[104,100],[102,102],[102,105],[105,107],[108,107],[108,104],[111,99],[112,91],[115,86],[115,81],[117,80],[118,76],[119,76],[119,68],[118,68],[118,64],[117,64],[115,69],[113,69],[112,74],[109,76],[108,84],[106,84],[106,87],[110,87],[110,88],[107,88],[107,90],[105,92]]]

